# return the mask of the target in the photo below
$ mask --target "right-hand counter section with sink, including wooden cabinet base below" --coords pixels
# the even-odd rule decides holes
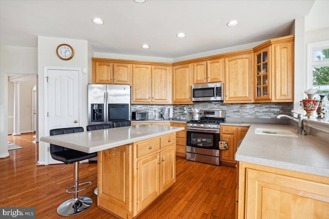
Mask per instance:
[[[251,124],[235,154],[239,218],[329,218],[329,144]]]

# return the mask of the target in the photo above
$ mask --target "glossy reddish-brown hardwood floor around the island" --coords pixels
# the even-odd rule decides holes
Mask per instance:
[[[32,133],[8,135],[8,141],[22,149],[10,150],[0,159],[0,206],[35,207],[36,218],[67,218],[57,214],[57,207],[71,198],[65,192],[73,185],[73,165],[37,166],[38,143]],[[176,183],[136,218],[234,218],[235,180],[233,167],[214,166],[177,157]],[[97,164],[79,164],[79,181],[93,185],[81,192],[91,197],[93,205],[69,218],[117,218],[97,207],[93,193],[97,185]]]

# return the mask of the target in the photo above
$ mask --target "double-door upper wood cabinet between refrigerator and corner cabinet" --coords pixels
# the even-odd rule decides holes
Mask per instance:
[[[133,66],[132,104],[170,104],[171,67]]]

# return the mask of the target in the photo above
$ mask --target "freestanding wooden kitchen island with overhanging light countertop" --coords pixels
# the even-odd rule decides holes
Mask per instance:
[[[132,218],[176,181],[175,132],[181,127],[137,125],[40,138],[98,152],[98,206]]]

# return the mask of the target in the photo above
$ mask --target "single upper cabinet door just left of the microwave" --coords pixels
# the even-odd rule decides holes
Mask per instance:
[[[191,101],[190,65],[175,66],[173,69],[173,103],[187,104]]]

